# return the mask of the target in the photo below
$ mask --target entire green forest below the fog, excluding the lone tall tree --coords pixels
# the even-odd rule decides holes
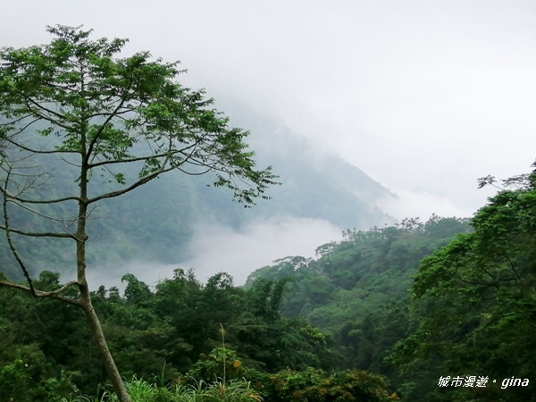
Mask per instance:
[[[128,274],[122,295],[101,286],[92,297],[127,378],[211,381],[226,366],[265,400],[533,400],[536,174],[518,179],[471,220],[347,230],[316,259],[283,258],[245,287],[179,268],[155,289]],[[60,278],[42,272],[39,284]],[[36,396],[105,383],[76,308],[0,297],[3,398],[29,383]]]

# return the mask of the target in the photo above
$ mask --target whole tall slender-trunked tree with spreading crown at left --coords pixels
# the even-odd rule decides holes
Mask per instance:
[[[118,397],[128,401],[86,278],[88,220],[96,203],[180,171],[212,172],[214,186],[252,205],[266,198],[276,176],[270,167],[255,168],[247,131],[230,128],[203,90],[176,81],[184,72],[178,63],[148,52],[119,58],[127,39],[91,40],[91,30],[81,27],[47,31],[54,36],[47,45],[0,50],[0,228],[28,282],[0,286],[80,306]],[[107,187],[96,180],[99,174]],[[31,219],[30,228],[16,219],[21,216]],[[17,249],[21,237],[71,241],[76,281],[37,289]]]

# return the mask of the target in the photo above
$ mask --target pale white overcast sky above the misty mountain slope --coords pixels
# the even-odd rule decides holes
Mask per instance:
[[[477,178],[536,157],[532,0],[25,0],[2,14],[0,45],[84,24],[180,60],[188,86],[277,118],[392,189],[393,214],[473,214],[491,194]]]

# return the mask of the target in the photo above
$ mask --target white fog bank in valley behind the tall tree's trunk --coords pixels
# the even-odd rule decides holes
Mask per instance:
[[[272,219],[248,224],[241,230],[223,226],[199,225],[189,243],[193,258],[177,264],[155,264],[150,261],[130,261],[121,267],[88,269],[92,289],[105,284],[107,288],[121,285],[121,276],[133,273],[140,281],[155,286],[158,281],[172,278],[175,268],[193,268],[199,281],[206,281],[218,272],[230,273],[236,285],[242,285],[247,275],[257,268],[288,255],[313,257],[316,247],[341,239],[341,230],[330,222],[315,219]]]

